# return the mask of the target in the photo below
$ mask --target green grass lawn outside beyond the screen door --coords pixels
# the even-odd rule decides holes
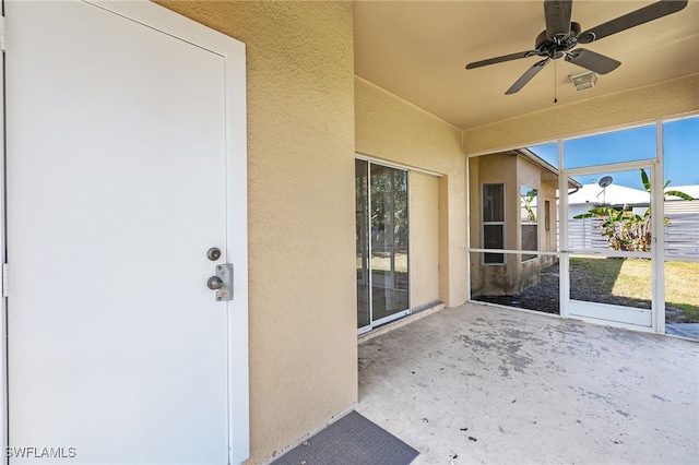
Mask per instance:
[[[583,300],[650,308],[651,262],[641,259],[596,259],[573,257],[571,291]],[[699,322],[699,263],[665,263],[667,320]]]

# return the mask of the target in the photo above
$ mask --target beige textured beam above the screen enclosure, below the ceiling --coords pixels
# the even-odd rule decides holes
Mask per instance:
[[[558,138],[699,110],[699,74],[498,121],[464,132],[464,153],[531,146]]]

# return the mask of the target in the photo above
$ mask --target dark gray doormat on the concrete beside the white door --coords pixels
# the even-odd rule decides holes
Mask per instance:
[[[407,465],[419,455],[383,428],[351,412],[273,465]]]

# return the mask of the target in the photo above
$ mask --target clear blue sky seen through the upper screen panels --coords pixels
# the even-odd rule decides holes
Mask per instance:
[[[564,141],[564,168],[579,168],[619,162],[655,158],[655,124],[595,134]],[[555,142],[529,147],[536,155],[558,166],[558,148]],[[677,186],[699,184],[699,117],[666,121],[663,123],[663,153],[665,180],[668,189]],[[640,172],[599,172],[576,177],[589,184],[612,176],[615,184],[643,189]]]

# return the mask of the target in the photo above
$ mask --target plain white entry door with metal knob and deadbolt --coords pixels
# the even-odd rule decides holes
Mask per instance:
[[[10,463],[245,458],[247,314],[206,287],[245,263],[227,58],[79,1],[5,16]]]

